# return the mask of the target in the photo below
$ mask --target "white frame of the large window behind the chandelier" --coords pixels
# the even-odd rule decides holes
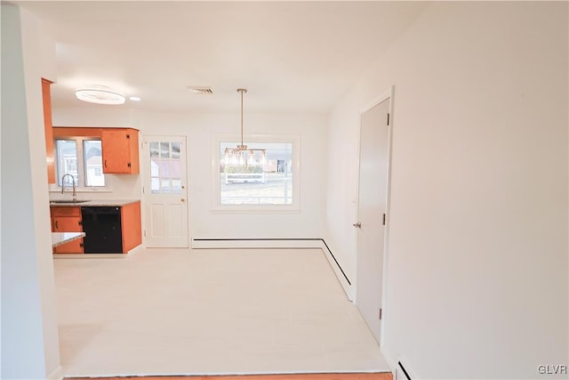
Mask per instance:
[[[291,143],[293,145],[292,181],[293,202],[290,205],[222,205],[220,186],[220,143],[241,141],[239,134],[217,134],[212,136],[212,211],[226,213],[298,213],[301,211],[301,137],[291,134],[244,134],[244,145],[248,143]]]

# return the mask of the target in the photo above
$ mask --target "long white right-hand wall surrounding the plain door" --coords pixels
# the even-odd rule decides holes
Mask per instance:
[[[333,110],[327,239],[353,277],[358,112],[396,86],[382,350],[413,378],[569,360],[567,5],[430,4]]]

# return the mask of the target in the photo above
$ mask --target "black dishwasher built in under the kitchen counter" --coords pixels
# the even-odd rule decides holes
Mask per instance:
[[[81,207],[85,254],[122,254],[121,207]]]

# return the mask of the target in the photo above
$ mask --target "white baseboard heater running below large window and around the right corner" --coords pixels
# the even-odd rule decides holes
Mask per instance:
[[[336,262],[324,239],[192,239],[192,249],[238,249],[238,248],[319,248],[340,281],[350,301],[354,300],[354,287]]]

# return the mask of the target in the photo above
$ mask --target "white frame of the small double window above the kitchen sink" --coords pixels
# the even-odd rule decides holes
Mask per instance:
[[[55,162],[55,183],[50,185],[50,191],[61,191],[60,186],[60,160],[57,150],[57,141],[75,141],[76,155],[77,155],[77,183],[76,191],[91,192],[91,191],[105,191],[108,190],[108,174],[102,173],[105,177],[104,186],[85,186],[85,160],[84,160],[84,141],[101,141],[101,155],[102,155],[102,140],[100,136],[57,136],[53,138],[53,158]],[[101,169],[102,170],[102,169]]]

